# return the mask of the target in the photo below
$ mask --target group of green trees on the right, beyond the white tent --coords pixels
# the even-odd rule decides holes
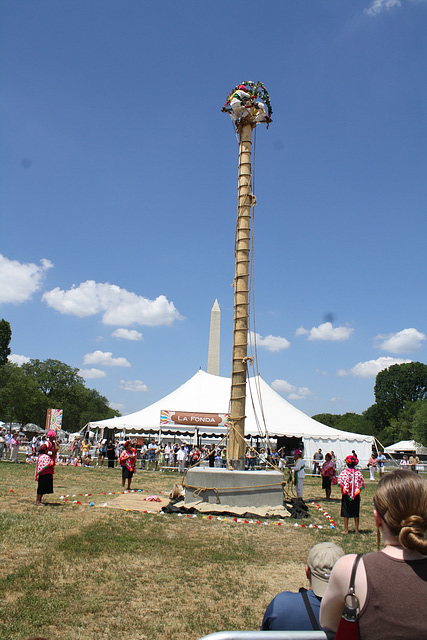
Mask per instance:
[[[375,403],[358,413],[319,413],[312,416],[335,429],[373,435],[387,446],[415,440],[427,446],[427,365],[394,364],[375,380]]]

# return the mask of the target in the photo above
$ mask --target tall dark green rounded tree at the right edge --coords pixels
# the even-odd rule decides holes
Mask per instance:
[[[421,362],[394,364],[380,371],[374,393],[383,420],[389,423],[411,402],[427,397],[427,365]]]

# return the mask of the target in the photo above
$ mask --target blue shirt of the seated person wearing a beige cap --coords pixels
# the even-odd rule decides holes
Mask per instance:
[[[319,625],[320,603],[311,589],[307,590],[308,601]],[[268,605],[262,620],[261,631],[313,631],[301,593],[282,591]]]

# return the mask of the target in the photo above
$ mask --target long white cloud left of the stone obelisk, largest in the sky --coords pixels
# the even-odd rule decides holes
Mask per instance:
[[[181,318],[173,302],[163,295],[149,300],[115,284],[94,280],[73,285],[68,291],[56,287],[43,294],[42,300],[60,313],[79,318],[102,313],[102,321],[108,325],[170,326]]]

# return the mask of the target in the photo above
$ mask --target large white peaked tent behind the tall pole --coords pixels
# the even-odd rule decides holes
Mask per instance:
[[[175,391],[154,404],[127,416],[90,422],[90,429],[109,428],[116,431],[142,434],[188,435],[196,429],[201,437],[224,435],[221,426],[164,426],[160,413],[187,412],[203,414],[227,414],[230,399],[230,378],[211,375],[199,370],[192,378]],[[323,453],[334,451],[338,460],[354,449],[360,463],[366,465],[371,457],[373,436],[340,431],[313,420],[305,413],[289,404],[258,376],[250,378],[247,385],[245,436],[266,435],[271,438],[296,437],[304,444],[304,457],[312,460],[320,447]]]

